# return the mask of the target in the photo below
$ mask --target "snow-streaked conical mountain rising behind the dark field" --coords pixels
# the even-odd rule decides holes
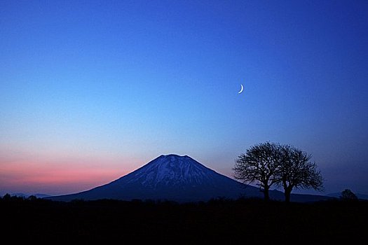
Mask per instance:
[[[271,198],[283,200],[278,190]],[[307,197],[308,196],[308,197]],[[207,201],[216,197],[263,197],[259,188],[248,186],[214,172],[187,155],[161,155],[143,167],[116,181],[81,193],[48,197],[51,200],[172,200],[177,202]],[[314,195],[292,195],[294,201],[321,200]],[[327,197],[328,198],[328,197]]]

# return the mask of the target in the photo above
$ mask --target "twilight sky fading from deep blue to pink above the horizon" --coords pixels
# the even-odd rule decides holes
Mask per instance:
[[[0,57],[1,195],[168,153],[231,176],[264,141],[368,193],[367,1],[1,0]]]

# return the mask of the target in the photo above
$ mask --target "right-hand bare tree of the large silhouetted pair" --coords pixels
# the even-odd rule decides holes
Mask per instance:
[[[293,188],[323,190],[323,180],[312,155],[294,146],[278,146],[275,157],[280,157],[277,183],[284,188],[285,202],[290,202]]]

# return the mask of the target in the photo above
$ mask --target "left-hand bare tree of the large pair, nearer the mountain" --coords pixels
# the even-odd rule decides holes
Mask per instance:
[[[279,145],[261,143],[251,146],[245,154],[238,156],[234,177],[243,183],[256,183],[264,193],[264,200],[270,199],[268,191],[278,181],[276,172],[280,166]]]

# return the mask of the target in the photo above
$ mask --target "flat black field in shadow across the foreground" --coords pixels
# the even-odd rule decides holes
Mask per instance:
[[[262,200],[52,202],[0,200],[1,233],[13,241],[165,244],[366,244],[368,202]]]

